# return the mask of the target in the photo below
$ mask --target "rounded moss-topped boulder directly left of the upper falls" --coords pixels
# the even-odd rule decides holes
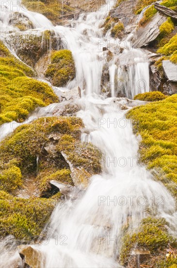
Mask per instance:
[[[72,53],[69,50],[53,51],[51,63],[46,71],[46,77],[54,86],[63,87],[75,77],[75,65]]]

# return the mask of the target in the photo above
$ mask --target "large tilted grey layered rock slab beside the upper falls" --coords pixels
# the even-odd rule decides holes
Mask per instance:
[[[141,48],[148,45],[149,42],[153,41],[160,34],[159,27],[166,18],[159,13],[154,15],[152,19],[144,26],[140,27],[134,37],[134,48]]]

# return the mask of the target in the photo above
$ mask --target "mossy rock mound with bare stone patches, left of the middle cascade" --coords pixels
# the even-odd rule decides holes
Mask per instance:
[[[35,178],[40,193],[49,190],[50,180],[74,185],[63,153],[74,168],[83,168],[90,176],[100,172],[101,153],[94,145],[80,141],[81,128],[82,120],[74,116],[40,118],[16,128],[0,144],[1,190],[14,192],[28,176]],[[18,176],[16,172],[9,175],[11,167]]]

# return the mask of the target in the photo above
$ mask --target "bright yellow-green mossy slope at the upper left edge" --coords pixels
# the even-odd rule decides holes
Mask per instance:
[[[35,107],[58,101],[46,83],[26,75],[34,74],[0,42],[0,124],[13,120],[21,122]]]

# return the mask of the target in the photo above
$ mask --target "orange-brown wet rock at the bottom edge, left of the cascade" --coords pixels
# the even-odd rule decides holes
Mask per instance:
[[[45,267],[42,261],[42,254],[31,246],[18,246],[19,255],[23,262],[24,268],[41,268]]]

